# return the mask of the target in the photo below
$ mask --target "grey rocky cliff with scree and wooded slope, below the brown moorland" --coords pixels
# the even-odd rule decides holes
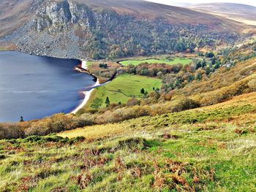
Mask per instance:
[[[220,30],[218,19],[214,30],[205,21],[171,23],[72,0],[34,1],[35,14],[0,42],[14,42],[26,53],[98,59],[194,50],[238,38],[236,31]]]

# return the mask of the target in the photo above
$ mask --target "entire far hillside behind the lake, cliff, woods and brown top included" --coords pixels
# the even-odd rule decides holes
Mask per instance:
[[[247,28],[192,9],[139,0],[4,0],[1,7],[1,47],[13,44],[26,53],[61,58],[193,51],[235,42]]]

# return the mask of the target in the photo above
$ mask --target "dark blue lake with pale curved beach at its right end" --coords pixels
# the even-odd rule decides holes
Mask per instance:
[[[94,77],[73,70],[80,61],[0,51],[0,122],[71,112]]]

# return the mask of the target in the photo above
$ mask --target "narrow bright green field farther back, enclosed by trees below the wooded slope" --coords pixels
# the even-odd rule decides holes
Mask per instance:
[[[129,64],[132,65],[139,65],[143,63],[148,64],[168,64],[168,65],[174,65],[174,64],[190,64],[192,62],[192,59],[190,58],[174,58],[173,61],[165,60],[165,59],[143,59],[143,60],[127,60],[127,61],[121,61],[120,64],[124,66],[128,66]]]

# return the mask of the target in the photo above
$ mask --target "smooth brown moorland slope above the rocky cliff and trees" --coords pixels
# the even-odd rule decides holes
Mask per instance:
[[[156,4],[153,2],[142,0],[75,0],[81,4],[89,4],[97,9],[109,9],[118,12],[119,14],[135,15],[136,18],[165,18],[169,23],[203,23],[208,26],[223,28],[222,18],[217,18],[207,13],[197,12],[192,9],[183,7],[173,7],[166,4]],[[191,19],[193,18],[193,19]],[[224,21],[230,25],[230,21]],[[234,23],[238,26],[238,23]],[[230,26],[234,27],[234,26]],[[226,29],[225,29],[226,30]]]

